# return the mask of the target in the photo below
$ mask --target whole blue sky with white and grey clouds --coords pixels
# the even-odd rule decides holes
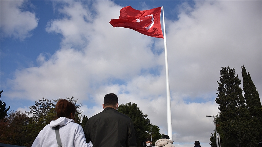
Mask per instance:
[[[176,147],[210,146],[214,124],[206,115],[218,114],[221,67],[242,80],[245,64],[261,100],[262,1],[0,2],[0,90],[10,110],[74,96],[91,117],[116,93],[167,134],[164,40],[109,24],[129,5],[164,6]]]

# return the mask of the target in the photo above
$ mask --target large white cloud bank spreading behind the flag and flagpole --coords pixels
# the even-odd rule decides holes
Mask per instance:
[[[67,5],[63,5],[66,3]],[[262,92],[261,1],[196,1],[184,4],[179,20],[166,20],[173,140],[209,146],[219,71],[235,67],[241,78],[245,64]],[[36,100],[74,96],[85,103],[84,115],[102,111],[103,97],[116,93],[119,103],[136,103],[151,123],[167,133],[164,54],[150,50],[155,39],[126,28],[113,28],[110,19],[121,7],[97,1],[92,10],[82,2],[63,1],[62,18],[49,21],[46,31],[63,36],[61,49],[39,67],[17,70],[9,97]],[[92,12],[95,11],[96,15]],[[155,41],[163,45],[163,40]],[[156,50],[163,49],[156,45]],[[160,74],[150,74],[158,68]]]

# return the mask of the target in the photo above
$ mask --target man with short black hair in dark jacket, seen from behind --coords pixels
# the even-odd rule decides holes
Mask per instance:
[[[109,93],[104,97],[104,111],[86,122],[86,142],[93,147],[136,147],[135,129],[132,120],[117,112],[118,97]]]

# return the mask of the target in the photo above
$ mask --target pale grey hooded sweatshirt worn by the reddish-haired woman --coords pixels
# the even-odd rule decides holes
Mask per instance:
[[[63,147],[92,147],[92,142],[86,143],[82,127],[73,119],[59,117],[50,122],[36,137],[32,147],[57,147],[55,128],[59,126],[59,134]]]

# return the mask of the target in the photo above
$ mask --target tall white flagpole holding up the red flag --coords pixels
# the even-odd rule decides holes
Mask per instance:
[[[165,17],[164,17],[164,7],[163,10],[163,28],[164,28],[164,47],[165,47],[165,61],[166,61],[166,101],[167,101],[167,135],[170,140],[173,140],[172,134],[172,119],[171,119],[171,102],[170,102],[170,89],[169,89],[169,74],[168,74],[168,63],[167,63],[167,49],[166,49],[166,27],[165,27]]]

